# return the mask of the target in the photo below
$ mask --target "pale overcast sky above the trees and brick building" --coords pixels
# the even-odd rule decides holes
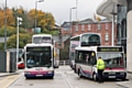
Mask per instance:
[[[7,7],[12,8],[20,6],[24,10],[30,11],[35,9],[35,2],[38,0],[7,0]],[[37,2],[37,10],[44,12],[51,12],[55,18],[56,23],[63,24],[65,21],[69,21],[72,15],[72,21],[81,21],[85,19],[94,18],[97,8],[103,0],[44,0],[43,2]],[[0,7],[6,4],[6,0],[0,0]],[[72,9],[70,14],[70,8]]]

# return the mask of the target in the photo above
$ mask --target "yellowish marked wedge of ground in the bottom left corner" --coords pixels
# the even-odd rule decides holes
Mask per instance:
[[[21,75],[12,75],[6,77],[3,80],[0,81],[0,88],[9,87],[14,80],[16,80]]]

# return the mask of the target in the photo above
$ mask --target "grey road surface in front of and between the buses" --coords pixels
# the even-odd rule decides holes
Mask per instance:
[[[8,81],[9,79],[7,79]],[[69,66],[61,66],[55,69],[54,79],[25,79],[22,73],[14,76],[11,81],[13,82],[8,88],[121,88],[117,85],[119,80],[107,80],[103,84],[98,84],[88,78],[79,78]]]

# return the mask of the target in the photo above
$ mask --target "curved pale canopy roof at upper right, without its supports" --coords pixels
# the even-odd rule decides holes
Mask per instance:
[[[117,4],[127,6],[127,0],[103,0],[97,8],[97,14],[112,19],[112,13],[117,13]]]

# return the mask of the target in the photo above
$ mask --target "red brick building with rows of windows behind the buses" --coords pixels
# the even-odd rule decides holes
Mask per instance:
[[[86,19],[79,22],[64,22],[62,24],[62,36],[78,35],[81,33],[99,33],[101,36],[101,45],[111,45],[112,43],[112,22],[105,19],[101,21],[94,21]],[[117,44],[117,26],[114,26],[114,45]]]

